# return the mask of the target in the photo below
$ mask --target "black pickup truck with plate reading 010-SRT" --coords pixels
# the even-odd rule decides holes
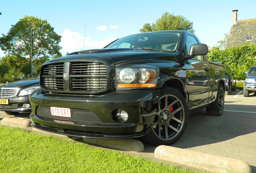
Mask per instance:
[[[47,61],[41,89],[30,96],[32,126],[76,137],[174,143],[189,113],[223,113],[227,71],[209,62],[207,52],[190,32],[158,31]]]

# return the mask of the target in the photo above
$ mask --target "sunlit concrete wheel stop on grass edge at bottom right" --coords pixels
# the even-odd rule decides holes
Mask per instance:
[[[202,169],[212,173],[252,173],[250,166],[242,160],[211,155],[188,149],[160,145],[155,149],[157,159]]]

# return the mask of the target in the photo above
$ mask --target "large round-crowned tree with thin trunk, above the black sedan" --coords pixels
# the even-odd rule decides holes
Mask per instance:
[[[33,66],[33,60],[37,58],[60,54],[60,38],[47,20],[25,16],[11,26],[7,35],[2,34],[0,48],[15,56],[29,56]]]

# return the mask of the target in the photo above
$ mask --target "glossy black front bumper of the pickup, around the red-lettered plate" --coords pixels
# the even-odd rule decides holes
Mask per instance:
[[[159,95],[159,90],[144,90],[115,92],[100,97],[72,97],[54,96],[37,90],[30,97],[32,126],[43,131],[76,137],[107,139],[140,137],[148,134],[151,130],[151,125],[155,119],[155,112],[157,111]],[[152,103],[153,106],[149,109],[149,105]],[[40,107],[46,108],[45,112],[47,114],[41,114],[42,111],[37,112]],[[49,115],[50,112],[47,109],[50,110],[50,108],[47,107],[70,108],[71,118]],[[117,109],[128,113],[129,117],[126,122],[117,123],[114,121],[114,112]],[[101,122],[74,120],[72,110],[90,111]]]

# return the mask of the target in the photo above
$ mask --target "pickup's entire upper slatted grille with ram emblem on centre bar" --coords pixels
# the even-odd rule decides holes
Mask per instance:
[[[107,88],[107,68],[100,62],[62,62],[41,68],[40,84],[47,91],[95,93]]]

